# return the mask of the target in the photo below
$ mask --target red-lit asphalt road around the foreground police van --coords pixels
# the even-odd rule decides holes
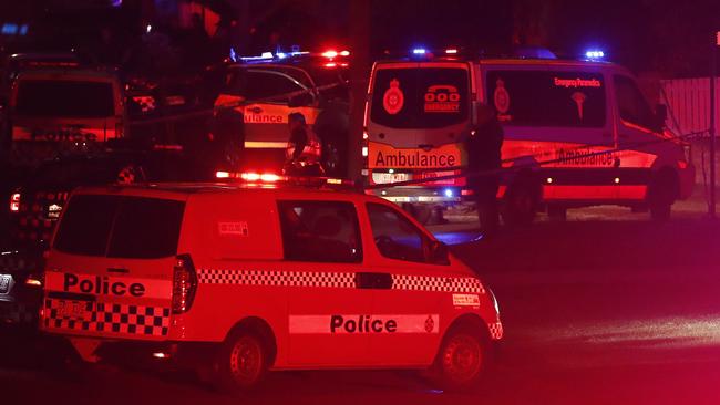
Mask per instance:
[[[646,216],[580,212],[494,240],[473,241],[477,233],[469,224],[432,227],[460,242],[453,251],[500,301],[503,355],[476,392],[432,391],[407,372],[294,372],[271,375],[240,401],[178,373],[59,372],[39,365],[37,347],[23,340],[0,345],[6,359],[14,357],[0,361],[0,398],[174,405],[720,403],[720,224],[690,215],[659,225]]]

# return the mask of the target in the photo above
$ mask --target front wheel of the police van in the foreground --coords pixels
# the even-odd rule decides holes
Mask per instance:
[[[451,330],[433,365],[433,381],[443,390],[479,388],[490,361],[486,340],[476,328]]]

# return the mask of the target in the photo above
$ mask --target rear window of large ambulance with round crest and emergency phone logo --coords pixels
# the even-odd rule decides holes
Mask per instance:
[[[392,128],[442,128],[469,120],[467,71],[457,68],[376,72],[373,123]]]

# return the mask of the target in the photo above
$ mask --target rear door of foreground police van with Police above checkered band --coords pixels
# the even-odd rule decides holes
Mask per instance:
[[[104,338],[165,338],[183,197],[71,197],[47,264],[42,328]]]

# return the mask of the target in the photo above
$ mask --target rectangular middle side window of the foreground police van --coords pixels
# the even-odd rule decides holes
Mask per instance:
[[[362,239],[351,202],[280,201],[286,260],[361,262]]]

